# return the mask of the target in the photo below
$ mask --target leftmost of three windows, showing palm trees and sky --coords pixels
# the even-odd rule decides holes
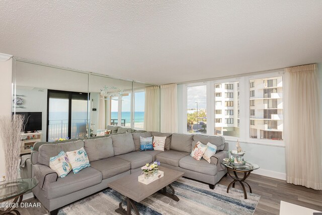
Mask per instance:
[[[187,87],[187,132],[207,132],[207,86]]]

